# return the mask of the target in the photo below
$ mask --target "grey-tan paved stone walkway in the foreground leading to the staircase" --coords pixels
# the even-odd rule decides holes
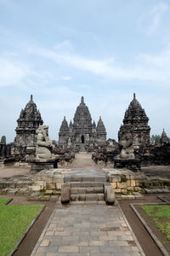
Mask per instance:
[[[118,206],[57,203],[31,256],[144,255]]]

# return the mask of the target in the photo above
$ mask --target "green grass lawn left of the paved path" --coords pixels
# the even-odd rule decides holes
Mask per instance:
[[[20,241],[42,206],[6,206],[8,198],[0,198],[0,255],[7,256]]]

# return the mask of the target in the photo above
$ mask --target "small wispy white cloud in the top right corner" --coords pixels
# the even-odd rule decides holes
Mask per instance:
[[[162,15],[167,11],[168,6],[166,3],[158,3],[151,11],[150,11],[150,17],[151,17],[151,25],[148,28],[148,34],[152,35],[156,32],[156,30],[159,28],[161,24],[161,18]]]

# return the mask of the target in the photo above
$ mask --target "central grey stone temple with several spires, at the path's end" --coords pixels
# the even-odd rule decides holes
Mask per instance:
[[[92,123],[91,114],[84,103],[84,98],[77,107],[73,123],[68,125],[64,118],[59,129],[59,145],[70,146],[77,150],[93,148],[95,145],[105,145],[106,131],[105,125],[99,117],[98,125]]]

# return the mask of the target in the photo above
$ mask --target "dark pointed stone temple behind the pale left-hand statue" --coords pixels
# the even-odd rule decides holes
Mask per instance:
[[[28,153],[29,150],[32,151],[36,148],[36,130],[39,125],[43,124],[41,113],[37,110],[32,95],[30,101],[26,104],[26,108],[21,110],[17,123],[16,137],[14,138],[15,154]]]

